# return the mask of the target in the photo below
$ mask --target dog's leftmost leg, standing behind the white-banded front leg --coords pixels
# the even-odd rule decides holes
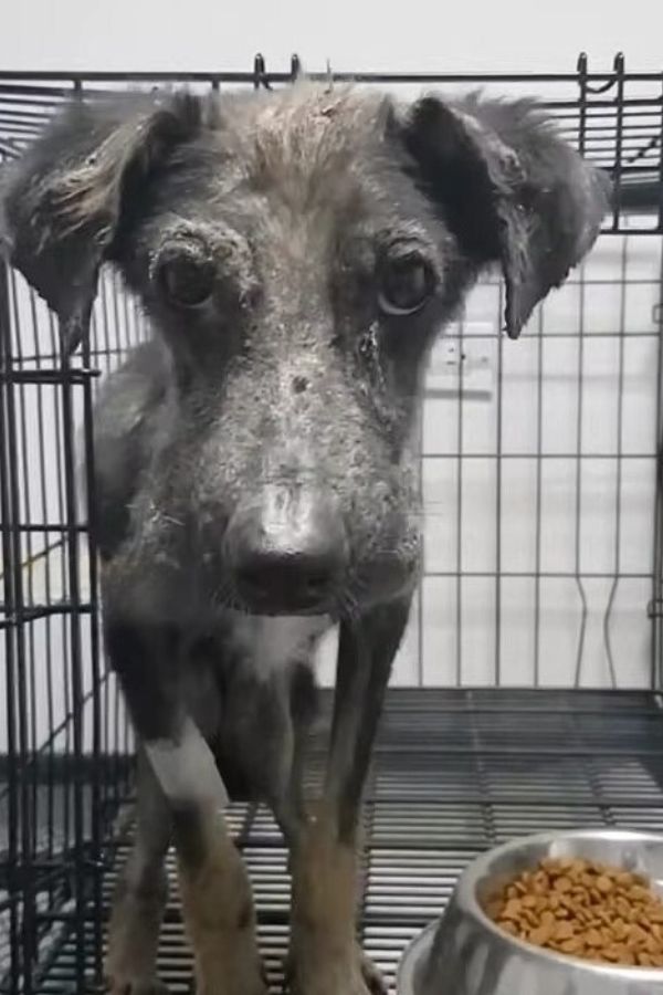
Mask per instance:
[[[122,870],[110,924],[105,975],[112,995],[162,995],[157,947],[168,878],[170,809],[145,753],[138,752],[136,840]]]

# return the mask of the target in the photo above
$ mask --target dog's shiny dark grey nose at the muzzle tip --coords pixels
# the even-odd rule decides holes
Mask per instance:
[[[239,509],[225,555],[241,600],[255,614],[324,610],[347,566],[347,540],[334,502],[303,488],[270,488]]]

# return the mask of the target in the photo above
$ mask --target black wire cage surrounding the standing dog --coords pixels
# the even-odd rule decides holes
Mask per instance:
[[[128,85],[276,87],[299,74],[0,73],[0,163],[63,102]],[[315,74],[314,74],[315,75]],[[540,97],[613,180],[588,261],[499,337],[482,282],[436,347],[421,426],[425,570],[367,789],[362,940],[393,983],[408,940],[477,851],[544,828],[663,829],[663,72],[319,74],[409,97]],[[1,168],[1,166],[0,166]],[[104,274],[71,360],[0,264],[0,993],[94,992],[131,834],[131,735],[98,629],[90,479],[99,379],[149,334]],[[332,647],[333,651],[333,647]],[[323,677],[329,660],[322,661]],[[427,689],[425,691],[422,689]],[[312,777],[322,763],[312,747]],[[276,985],[288,879],[276,827],[231,806]],[[173,893],[160,971],[189,991]]]

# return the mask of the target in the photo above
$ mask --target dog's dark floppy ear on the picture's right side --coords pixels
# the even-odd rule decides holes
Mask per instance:
[[[463,253],[480,268],[502,266],[506,331],[517,338],[536,304],[593,245],[608,177],[527,101],[424,97],[402,128],[414,178]]]

